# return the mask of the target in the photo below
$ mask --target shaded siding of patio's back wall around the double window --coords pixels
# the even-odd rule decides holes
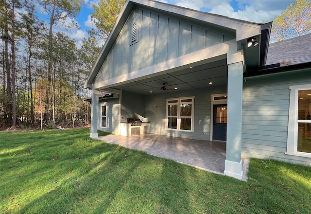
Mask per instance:
[[[226,87],[182,92],[167,92],[149,95],[145,98],[145,113],[150,122],[150,132],[174,137],[198,140],[210,139],[210,105],[211,94],[226,93]],[[194,98],[194,132],[173,131],[165,129],[166,99],[195,96]],[[206,133],[206,134],[204,134]]]

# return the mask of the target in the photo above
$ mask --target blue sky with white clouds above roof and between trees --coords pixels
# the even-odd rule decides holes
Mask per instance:
[[[87,37],[86,30],[92,27],[90,14],[93,4],[98,5],[100,0],[84,0],[84,6],[78,17],[74,18],[80,29],[64,31],[79,44]],[[262,23],[271,21],[279,16],[294,0],[158,0],[177,6],[200,10],[208,13],[223,15],[252,22]],[[62,31],[59,28],[59,31]]]

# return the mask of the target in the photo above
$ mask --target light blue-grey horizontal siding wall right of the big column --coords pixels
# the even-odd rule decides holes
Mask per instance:
[[[247,79],[243,83],[242,156],[311,164],[286,155],[290,86],[311,83],[311,69]]]

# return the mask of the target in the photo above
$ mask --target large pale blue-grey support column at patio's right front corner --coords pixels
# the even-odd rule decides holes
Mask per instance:
[[[243,63],[228,65],[227,145],[224,175],[242,179]]]

